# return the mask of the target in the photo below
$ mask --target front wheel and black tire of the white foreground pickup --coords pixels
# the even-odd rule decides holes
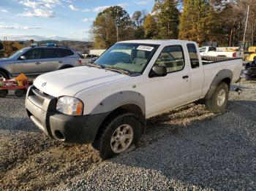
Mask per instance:
[[[99,151],[102,160],[126,152],[140,141],[141,126],[138,117],[132,113],[113,115],[102,126],[92,147]],[[124,147],[123,147],[124,146]]]

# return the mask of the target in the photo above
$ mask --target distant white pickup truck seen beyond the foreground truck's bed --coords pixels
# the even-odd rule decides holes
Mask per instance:
[[[241,51],[220,51],[221,48],[217,47],[200,47],[200,55],[209,55],[209,56],[218,56],[218,57],[227,57],[227,58],[244,58],[244,52]]]

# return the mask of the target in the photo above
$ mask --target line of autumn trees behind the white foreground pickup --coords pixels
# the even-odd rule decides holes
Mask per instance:
[[[255,9],[255,0],[155,0],[151,12],[136,11],[130,17],[122,7],[113,6],[99,12],[91,34],[97,49],[129,39],[187,39],[200,45],[238,46],[244,39],[255,41]]]

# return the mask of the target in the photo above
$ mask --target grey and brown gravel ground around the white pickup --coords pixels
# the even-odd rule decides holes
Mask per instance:
[[[138,149],[106,161],[48,139],[24,98],[1,98],[0,190],[256,190],[256,82],[241,86],[224,114],[190,104],[153,117]]]

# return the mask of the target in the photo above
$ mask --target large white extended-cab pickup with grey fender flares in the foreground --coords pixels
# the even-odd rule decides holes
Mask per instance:
[[[26,110],[50,138],[91,143],[103,159],[113,157],[138,145],[148,117],[198,100],[225,111],[242,61],[213,59],[202,61],[195,42],[118,42],[95,63],[37,77]]]

